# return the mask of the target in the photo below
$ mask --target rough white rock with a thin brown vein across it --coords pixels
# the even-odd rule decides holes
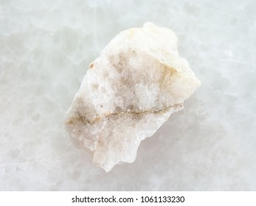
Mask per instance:
[[[146,23],[120,32],[89,65],[66,129],[93,153],[95,165],[111,171],[134,162],[139,143],[181,110],[199,85],[179,57],[175,33]]]

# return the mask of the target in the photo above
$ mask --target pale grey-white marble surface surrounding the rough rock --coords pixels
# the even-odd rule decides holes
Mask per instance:
[[[0,0],[1,191],[255,191],[256,1]],[[173,29],[201,88],[105,173],[63,118],[118,32]]]

